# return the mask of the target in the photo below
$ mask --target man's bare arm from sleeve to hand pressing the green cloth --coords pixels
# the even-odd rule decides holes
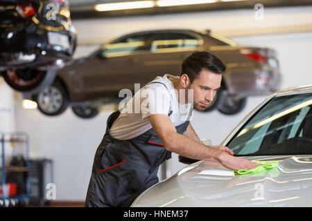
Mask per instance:
[[[180,135],[167,115],[150,115],[148,118],[168,151],[196,160],[218,162],[232,170],[252,169],[259,165],[243,158],[233,157],[224,151],[209,148],[184,135]]]

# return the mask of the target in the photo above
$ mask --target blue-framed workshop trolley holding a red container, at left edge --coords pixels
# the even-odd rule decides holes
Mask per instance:
[[[0,142],[0,207],[28,206],[28,135],[24,132],[0,133]]]

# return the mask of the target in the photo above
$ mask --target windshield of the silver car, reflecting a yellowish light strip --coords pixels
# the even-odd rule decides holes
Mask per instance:
[[[274,97],[234,135],[235,155],[312,153],[312,93]]]

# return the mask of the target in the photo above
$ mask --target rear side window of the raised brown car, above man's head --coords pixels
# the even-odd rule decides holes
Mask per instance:
[[[159,32],[153,35],[151,50],[153,52],[163,49],[192,49],[199,46],[199,40],[196,37],[183,33]]]

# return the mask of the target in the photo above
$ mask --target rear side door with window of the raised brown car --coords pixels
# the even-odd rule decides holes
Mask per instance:
[[[182,61],[200,46],[200,39],[183,32],[154,32],[144,66],[151,76],[180,75]]]

